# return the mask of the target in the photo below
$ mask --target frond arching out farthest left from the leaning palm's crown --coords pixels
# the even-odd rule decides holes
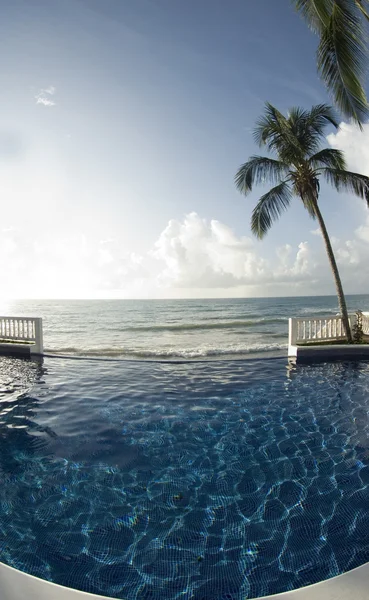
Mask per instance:
[[[266,156],[251,156],[241,165],[235,175],[237,189],[245,196],[251,192],[253,185],[269,181],[279,182],[288,173],[288,165]]]

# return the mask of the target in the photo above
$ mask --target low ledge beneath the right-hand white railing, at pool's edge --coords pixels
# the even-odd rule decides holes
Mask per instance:
[[[296,360],[296,362],[369,360],[369,344],[290,345],[288,347],[288,358]]]

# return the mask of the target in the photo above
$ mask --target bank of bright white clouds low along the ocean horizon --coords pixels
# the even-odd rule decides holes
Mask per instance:
[[[333,240],[347,293],[367,291],[369,217],[352,239]],[[9,297],[219,297],[334,293],[322,240],[284,244],[274,258],[263,244],[196,213],[171,220],[152,250],[123,252],[118,239],[21,229],[0,236],[0,270]],[[25,290],[27,293],[25,294]]]

